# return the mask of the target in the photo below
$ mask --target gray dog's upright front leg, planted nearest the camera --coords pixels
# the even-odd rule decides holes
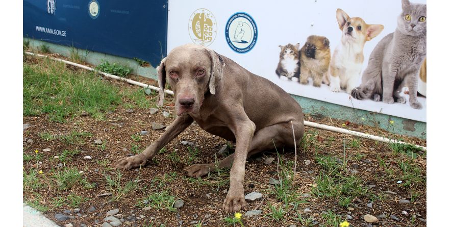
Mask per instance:
[[[236,116],[235,118],[233,125],[236,137],[236,150],[231,168],[230,188],[223,203],[223,210],[229,213],[238,212],[247,207],[243,191],[245,163],[249,145],[256,131],[256,125],[248,119],[244,112],[242,116]]]

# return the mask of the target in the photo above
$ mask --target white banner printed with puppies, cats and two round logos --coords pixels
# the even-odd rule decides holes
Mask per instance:
[[[426,0],[403,2],[170,0],[167,51],[208,46],[288,93],[426,122]]]

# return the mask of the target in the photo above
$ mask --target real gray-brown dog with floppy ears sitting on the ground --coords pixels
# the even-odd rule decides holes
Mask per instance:
[[[158,105],[163,105],[163,89],[168,80],[179,117],[141,154],[120,159],[116,168],[144,165],[195,120],[205,131],[236,142],[235,153],[218,164],[219,168],[232,165],[223,209],[226,212],[246,209],[243,191],[246,158],[274,146],[293,146],[292,125],[298,144],[305,128],[302,108],[277,85],[204,46],[186,44],[174,48],[157,70]],[[215,165],[196,164],[186,170],[187,175],[199,178],[215,171]]]

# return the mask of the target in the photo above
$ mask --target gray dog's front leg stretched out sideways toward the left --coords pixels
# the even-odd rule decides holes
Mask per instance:
[[[131,169],[145,165],[146,161],[152,159],[157,152],[168,144],[172,139],[183,132],[193,122],[193,118],[188,114],[183,114],[176,118],[153,144],[143,150],[142,153],[131,157],[124,157],[115,163],[118,169]]]

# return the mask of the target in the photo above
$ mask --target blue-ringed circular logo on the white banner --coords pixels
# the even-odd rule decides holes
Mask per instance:
[[[251,51],[258,39],[258,27],[253,17],[244,12],[233,14],[226,23],[226,41],[233,51],[244,54]]]

